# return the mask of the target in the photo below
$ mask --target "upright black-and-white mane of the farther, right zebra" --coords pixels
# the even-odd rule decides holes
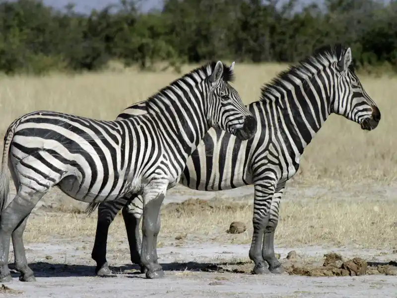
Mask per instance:
[[[261,88],[260,101],[274,101],[272,94],[279,94],[280,90],[284,90],[286,86],[298,84],[297,77],[302,77],[302,81],[317,74],[320,69],[328,67],[332,62],[339,61],[346,52],[346,48],[341,44],[325,45],[317,48],[313,53],[296,65],[290,66],[286,71],[277,74],[270,82],[265,83]],[[354,73],[353,65],[349,66],[349,70]]]

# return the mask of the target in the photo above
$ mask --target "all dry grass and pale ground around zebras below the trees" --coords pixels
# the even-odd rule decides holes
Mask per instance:
[[[185,66],[183,72],[193,67]],[[285,67],[236,64],[234,85],[248,104]],[[39,109],[115,119],[178,76],[116,68],[100,74],[2,77],[0,132],[17,116]],[[275,236],[283,275],[250,274],[252,186],[222,192],[177,186],[168,192],[158,238],[163,280],[146,280],[131,265],[121,216],[111,225],[107,254],[116,277],[94,277],[90,254],[96,215],[87,217],[84,203],[54,189],[35,208],[24,234],[37,282],[20,283],[15,275],[13,283],[0,288],[0,296],[397,297],[397,268],[391,262],[397,260],[397,78],[360,79],[382,120],[376,130],[366,132],[331,115],[306,149],[283,196]],[[234,221],[246,224],[247,230],[228,233]],[[287,258],[292,250],[296,256]],[[342,260],[324,256],[332,252]],[[342,265],[354,257],[366,261],[354,260],[354,270],[363,276],[350,276],[352,262]],[[12,262],[10,253],[11,268]]]

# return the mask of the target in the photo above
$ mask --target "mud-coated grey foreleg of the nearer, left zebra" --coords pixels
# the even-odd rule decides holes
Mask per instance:
[[[147,268],[146,278],[164,277],[164,271],[157,262],[157,235],[160,231],[160,208],[166,189],[159,194],[143,196],[141,266]],[[146,203],[147,202],[147,203]]]

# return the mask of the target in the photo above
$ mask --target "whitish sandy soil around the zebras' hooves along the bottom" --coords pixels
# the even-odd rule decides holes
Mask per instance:
[[[189,245],[186,247],[159,248],[160,261],[166,270],[162,280],[146,280],[136,266],[126,260],[112,260],[113,278],[93,276],[94,263],[90,249],[79,251],[84,243],[70,243],[59,239],[59,244],[31,244],[27,247],[28,258],[36,272],[36,283],[21,283],[15,273],[14,281],[6,286],[12,289],[7,297],[41,298],[91,298],[109,295],[112,297],[397,297],[397,277],[364,275],[346,277],[304,277],[288,275],[254,276],[248,267],[252,264],[236,258],[245,258],[248,245]],[[278,248],[283,265],[291,248]],[[322,249],[308,247],[295,249],[298,258],[322,259],[324,253],[335,251],[348,258],[360,256],[372,262],[387,263],[397,255],[379,256],[379,251],[347,249]],[[182,261],[183,260],[183,261]],[[229,261],[232,264],[227,264]],[[83,265],[86,264],[86,265]],[[215,264],[215,265],[214,265]],[[12,267],[12,266],[10,266]],[[233,268],[235,267],[235,268]],[[236,270],[236,268],[240,268]],[[201,270],[201,271],[199,271]],[[209,271],[209,272],[206,272]],[[234,271],[234,272],[233,272]],[[237,273],[236,273],[237,272]],[[16,292],[14,292],[16,291]],[[20,291],[20,292],[18,292]],[[3,290],[4,292],[4,290]],[[12,293],[14,292],[14,293]]]

